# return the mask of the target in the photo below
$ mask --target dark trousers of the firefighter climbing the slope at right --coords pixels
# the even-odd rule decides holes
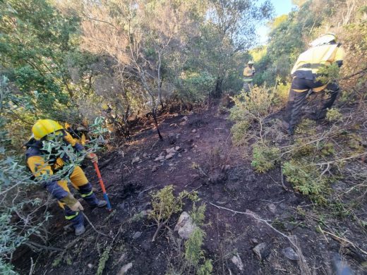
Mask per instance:
[[[318,111],[315,118],[322,118],[325,116],[327,109],[330,109],[332,104],[334,104],[337,95],[339,94],[339,86],[336,82],[330,82],[322,90],[323,83],[315,82],[313,80],[307,80],[304,78],[293,78],[291,82],[291,90],[289,90],[288,106],[287,111],[289,113],[289,128],[294,128],[299,122],[299,115],[301,114],[301,108],[306,101],[306,95],[308,90],[317,90],[317,92],[322,92],[327,90],[330,94],[329,98],[323,101],[323,107]],[[318,89],[319,88],[319,89]],[[303,92],[298,92],[297,90],[303,90]]]

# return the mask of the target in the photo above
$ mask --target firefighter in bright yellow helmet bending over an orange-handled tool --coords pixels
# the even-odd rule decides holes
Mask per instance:
[[[27,151],[25,152],[28,167],[36,180],[41,181],[42,176],[45,174],[50,176],[43,183],[44,187],[59,200],[60,207],[64,209],[65,218],[72,222],[76,236],[80,236],[85,232],[84,218],[80,214],[80,211],[83,211],[83,206],[70,193],[68,181],[64,179],[65,175],[59,175],[63,166],[69,161],[68,156],[66,154],[63,156],[62,154],[58,154],[58,152],[51,152],[52,154],[49,154],[44,149],[44,145],[47,145],[47,142],[61,142],[65,145],[71,145],[76,152],[83,153],[85,149],[73,140],[71,135],[59,123],[50,119],[37,121],[32,127],[32,134],[33,138],[26,144]],[[97,156],[95,154],[86,154],[85,157],[92,162],[97,162]],[[106,206],[106,201],[97,200],[97,197],[92,191],[92,185],[79,166],[73,167],[73,171],[68,178],[73,187],[78,190],[80,196],[83,197],[90,207]]]

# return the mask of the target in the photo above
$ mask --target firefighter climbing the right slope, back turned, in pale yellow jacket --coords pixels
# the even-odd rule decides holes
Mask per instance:
[[[299,121],[299,114],[308,90],[312,92],[326,90],[330,94],[330,97],[323,102],[323,107],[315,114],[315,119],[325,117],[327,109],[331,108],[339,94],[339,86],[335,80],[326,85],[316,80],[320,68],[330,66],[332,63],[337,63],[339,68],[342,66],[345,52],[336,40],[333,34],[318,37],[310,43],[311,48],[299,56],[291,70],[292,82],[288,98],[289,126],[287,130],[289,135],[294,133],[294,127]]]

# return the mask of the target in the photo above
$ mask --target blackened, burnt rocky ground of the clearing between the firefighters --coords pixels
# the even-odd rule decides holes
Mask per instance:
[[[318,225],[327,222],[315,216],[315,206],[306,197],[294,193],[279,166],[269,173],[253,171],[244,157],[246,148],[231,144],[231,123],[217,106],[165,114],[160,128],[164,141],[149,125],[137,129],[124,147],[100,158],[114,211],[85,207],[95,228],[87,223],[88,231],[80,238],[66,232],[54,203],[49,246],[63,251],[23,255],[15,261],[21,274],[28,274],[30,257],[36,263],[34,274],[96,274],[102,257],[107,257],[103,274],[165,274],[175,264],[175,247],[167,229],[151,241],[156,226],[146,219],[145,210],[150,209],[150,191],[171,184],[176,193],[197,190],[207,205],[203,248],[212,259],[213,274],[333,274],[336,253],[354,274],[366,274],[360,250],[366,250],[366,232],[345,219],[335,219],[332,228],[347,232],[348,240],[332,236],[331,229],[320,231]],[[99,190],[92,167],[87,171]],[[366,215],[366,205],[363,211]],[[169,227],[178,219],[175,215]],[[108,245],[112,249],[103,253]]]

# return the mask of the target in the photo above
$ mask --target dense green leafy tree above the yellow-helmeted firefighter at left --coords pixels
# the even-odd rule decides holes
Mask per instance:
[[[4,0],[0,18],[1,71],[32,102],[33,119],[56,117],[75,99],[66,59],[76,49],[78,17],[62,16],[46,0]]]

